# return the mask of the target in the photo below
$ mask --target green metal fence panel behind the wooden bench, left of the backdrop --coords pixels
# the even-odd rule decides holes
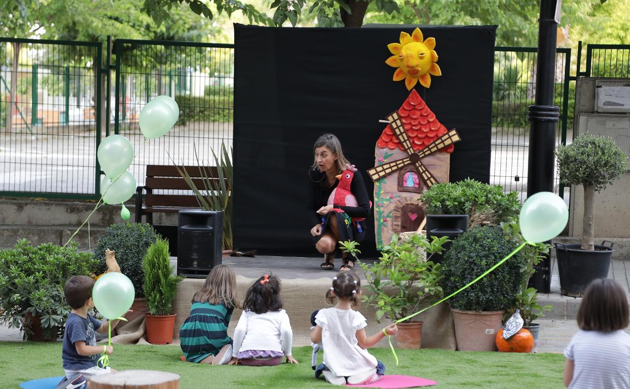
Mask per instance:
[[[144,185],[146,165],[214,165],[212,151],[232,146],[234,45],[117,40],[114,132],[136,152],[130,171]],[[180,119],[163,137],[144,141],[140,109],[158,95],[175,98]],[[171,161],[172,160],[172,161]]]

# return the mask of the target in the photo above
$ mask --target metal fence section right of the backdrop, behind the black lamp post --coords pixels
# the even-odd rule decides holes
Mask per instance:
[[[527,196],[529,122],[527,111],[536,94],[536,47],[496,47],[492,107],[490,183]],[[573,117],[575,96],[570,96],[571,49],[556,51],[554,105],[560,107],[556,144],[566,142],[568,117]],[[573,86],[575,91],[575,86]],[[572,125],[570,126],[572,131]],[[555,190],[563,193],[556,173]],[[564,194],[564,193],[563,193]]]

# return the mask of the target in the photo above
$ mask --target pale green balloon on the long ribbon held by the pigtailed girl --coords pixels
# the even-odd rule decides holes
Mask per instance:
[[[525,200],[520,209],[520,233],[529,243],[551,240],[562,232],[569,220],[569,209],[558,195],[538,192]]]

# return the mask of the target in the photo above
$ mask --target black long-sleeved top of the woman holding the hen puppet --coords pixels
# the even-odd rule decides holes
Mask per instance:
[[[311,226],[321,223],[321,215],[317,213],[318,209],[328,204],[328,197],[337,187],[338,180],[333,186],[328,187],[326,183],[326,173],[319,171],[318,168],[309,170],[309,178],[311,185],[309,187],[309,202],[306,207]],[[334,204],[335,208],[343,209],[351,218],[367,218],[370,214],[370,199],[367,195],[367,189],[363,182],[360,171],[355,171],[350,183],[350,192],[357,197],[357,207],[341,206]]]

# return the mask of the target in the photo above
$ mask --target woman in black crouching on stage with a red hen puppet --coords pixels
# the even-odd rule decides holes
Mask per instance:
[[[350,182],[350,192],[356,198],[357,204],[353,206],[328,204],[331,193],[340,182],[341,178],[338,177],[341,177],[341,173],[350,163],[343,155],[341,142],[333,134],[320,136],[313,146],[313,154],[314,161],[309,170],[311,186],[307,214],[313,226],[311,235],[315,248],[324,254],[324,262],[319,267],[333,270],[335,256],[341,256],[337,242],[345,240],[360,242],[364,239],[367,227],[364,218],[370,214],[370,199],[363,177],[355,171]],[[356,170],[353,167],[352,169]],[[355,257],[343,258],[340,270],[352,270],[356,260]]]

